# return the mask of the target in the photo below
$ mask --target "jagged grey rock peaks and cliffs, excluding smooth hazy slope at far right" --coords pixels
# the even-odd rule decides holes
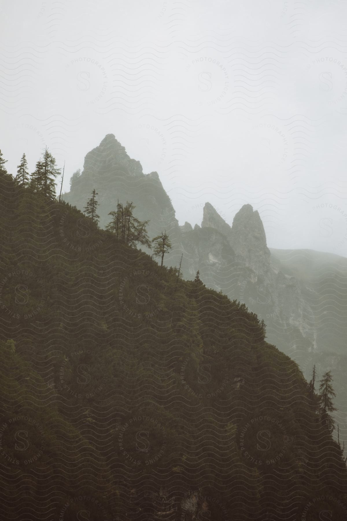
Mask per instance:
[[[108,213],[118,199],[132,201],[136,216],[150,220],[151,238],[164,229],[169,233],[173,249],[165,256],[166,265],[177,266],[183,253],[184,278],[194,279],[199,269],[208,286],[245,302],[266,322],[269,341],[287,354],[325,349],[323,331],[317,335],[323,313],[319,283],[298,277],[294,266],[270,252],[259,212],[250,204],[240,208],[232,226],[210,203],[203,208],[201,227],[189,222],[179,226],[158,173],[145,175],[113,134],[88,152],[81,176],[73,179],[64,199],[83,209],[93,188],[98,192],[101,227],[109,222]]]

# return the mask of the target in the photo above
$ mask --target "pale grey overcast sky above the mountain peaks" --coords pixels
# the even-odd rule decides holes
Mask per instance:
[[[267,244],[347,256],[347,2],[0,0],[0,148],[63,191],[108,133],[179,224],[242,204]]]

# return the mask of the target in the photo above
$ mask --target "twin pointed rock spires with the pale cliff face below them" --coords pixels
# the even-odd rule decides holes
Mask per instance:
[[[284,274],[281,264],[273,262],[259,212],[250,204],[243,205],[230,227],[213,206],[206,203],[201,226],[206,230],[218,230],[232,252],[224,267],[223,281],[219,280],[217,285],[216,276],[213,277],[214,287],[221,287],[230,298],[245,302],[251,311],[264,319],[268,341],[286,353],[293,355],[295,350],[315,349],[315,317],[311,303],[305,299],[301,282]],[[205,257],[210,250],[213,251],[211,258],[219,257],[221,265],[221,255],[217,254],[221,250],[205,241]]]

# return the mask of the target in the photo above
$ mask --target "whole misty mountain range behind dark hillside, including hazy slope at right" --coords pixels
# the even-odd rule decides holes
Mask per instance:
[[[339,409],[345,410],[346,259],[269,249],[259,212],[249,204],[236,213],[232,226],[208,202],[201,226],[179,226],[158,173],[145,175],[113,134],[86,155],[81,176],[63,197],[83,209],[93,188],[99,193],[101,227],[118,199],[133,201],[138,218],[150,219],[150,237],[164,229],[169,233],[173,249],[165,256],[166,266],[178,266],[183,254],[184,278],[194,279],[199,270],[207,287],[245,303],[265,321],[268,341],[293,357],[307,378],[315,363],[319,374],[332,368]],[[347,418],[337,418],[347,443]]]

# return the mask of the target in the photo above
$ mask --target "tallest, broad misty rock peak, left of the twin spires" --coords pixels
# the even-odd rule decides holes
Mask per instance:
[[[117,208],[118,199],[122,203],[132,201],[136,206],[136,217],[150,221],[149,237],[155,237],[166,229],[174,250],[177,249],[181,231],[158,172],[145,175],[140,162],[127,155],[113,134],[107,134],[99,146],[88,152],[81,176],[73,180],[70,192],[63,194],[63,199],[83,210],[94,188],[98,193],[100,227],[104,228],[110,221],[108,214]],[[179,257],[178,251],[166,261],[175,264],[176,257]]]

